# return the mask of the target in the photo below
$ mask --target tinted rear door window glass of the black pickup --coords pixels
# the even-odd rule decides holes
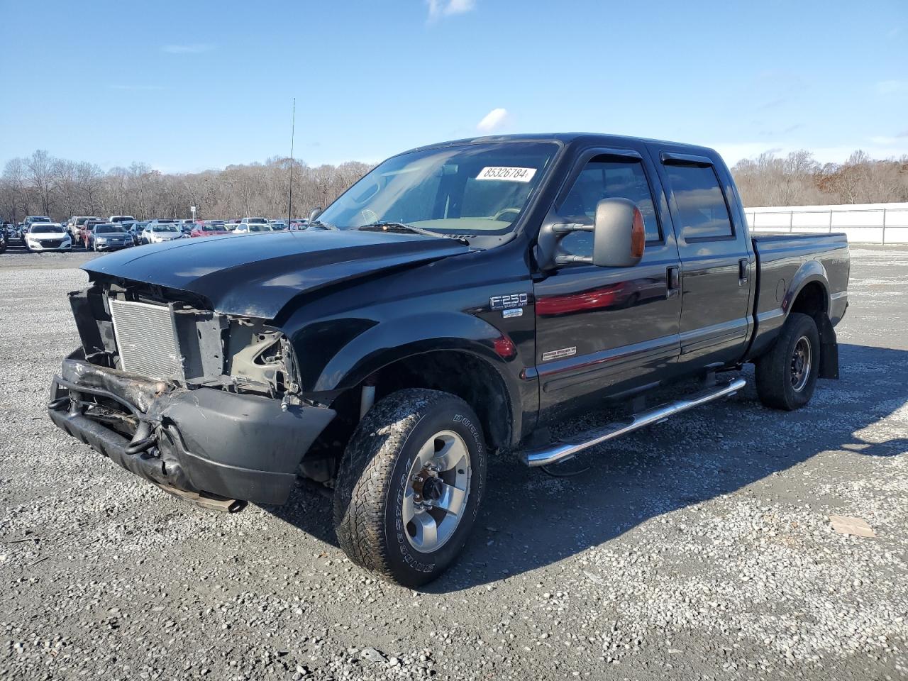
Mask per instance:
[[[668,185],[677,204],[681,236],[692,239],[723,239],[734,235],[728,206],[711,165],[666,163]]]

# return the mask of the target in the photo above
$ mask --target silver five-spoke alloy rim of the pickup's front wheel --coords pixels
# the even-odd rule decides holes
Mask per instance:
[[[419,448],[403,496],[410,546],[435,551],[451,538],[467,508],[469,450],[456,432],[442,430]]]

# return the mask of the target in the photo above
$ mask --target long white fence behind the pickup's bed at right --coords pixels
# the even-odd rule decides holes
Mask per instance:
[[[745,208],[752,232],[845,232],[849,242],[908,243],[908,203]]]

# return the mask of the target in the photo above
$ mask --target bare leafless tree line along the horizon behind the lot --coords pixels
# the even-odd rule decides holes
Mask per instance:
[[[310,166],[292,162],[293,215],[325,207],[370,171],[368,163]],[[854,152],[844,163],[818,163],[806,151],[763,153],[732,168],[746,206],[908,201],[908,156],[874,160]],[[36,151],[7,162],[0,175],[0,218],[25,215],[128,214],[139,219],[287,217],[291,160],[229,165],[202,173],[161,173],[144,163],[104,172],[94,163]]]

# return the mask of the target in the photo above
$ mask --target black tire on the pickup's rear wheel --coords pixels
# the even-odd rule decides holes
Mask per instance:
[[[809,351],[804,358],[803,347]],[[795,350],[801,352],[800,365],[807,375],[796,370]],[[756,360],[756,394],[767,407],[794,411],[804,407],[814,395],[820,370],[820,334],[814,318],[792,312],[785,320],[782,331],[772,350]]]

